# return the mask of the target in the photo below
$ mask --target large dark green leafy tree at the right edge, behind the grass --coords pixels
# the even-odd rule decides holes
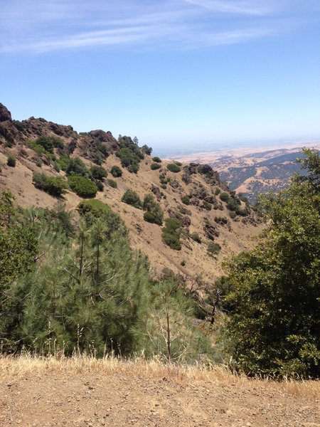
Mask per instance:
[[[261,243],[230,263],[227,348],[249,374],[320,376],[320,158],[308,173],[260,200]]]

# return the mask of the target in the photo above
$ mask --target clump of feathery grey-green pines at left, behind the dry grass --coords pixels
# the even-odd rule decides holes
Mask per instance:
[[[151,279],[119,215],[97,201],[80,206],[82,219],[71,230],[63,205],[23,212],[1,195],[2,352],[143,353],[172,361],[210,352],[182,285]]]

